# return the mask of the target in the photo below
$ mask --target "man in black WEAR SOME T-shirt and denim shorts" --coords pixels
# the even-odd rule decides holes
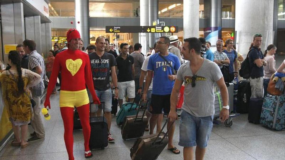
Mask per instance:
[[[96,39],[96,52],[89,54],[89,59],[91,62],[91,71],[93,77],[93,84],[96,94],[100,101],[105,102],[105,117],[107,119],[109,135],[108,141],[114,142],[110,134],[111,122],[112,122],[112,91],[110,86],[110,71],[115,87],[115,97],[118,98],[118,87],[117,87],[117,75],[115,70],[115,65],[117,65],[115,57],[112,54],[104,52],[105,50],[105,39],[103,37],[98,37]],[[94,107],[91,107],[91,116],[94,114]],[[92,113],[93,112],[93,113]],[[97,116],[101,116],[102,106],[99,106],[97,110]]]

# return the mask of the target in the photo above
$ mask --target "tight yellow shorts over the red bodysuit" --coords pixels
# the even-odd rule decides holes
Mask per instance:
[[[87,90],[81,91],[60,91],[59,106],[60,107],[80,107],[89,104]]]

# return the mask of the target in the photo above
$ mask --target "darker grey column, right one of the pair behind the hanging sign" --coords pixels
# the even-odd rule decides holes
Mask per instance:
[[[152,21],[158,19],[158,0],[148,0],[148,5],[148,25],[152,26]],[[153,47],[155,42],[155,33],[150,33],[149,47]]]

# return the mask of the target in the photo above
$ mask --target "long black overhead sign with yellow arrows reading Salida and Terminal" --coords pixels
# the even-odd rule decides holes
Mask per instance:
[[[177,26],[106,26],[106,33],[177,33]]]

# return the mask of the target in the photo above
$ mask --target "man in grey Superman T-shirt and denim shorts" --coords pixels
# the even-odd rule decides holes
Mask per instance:
[[[223,99],[223,108],[220,113],[222,122],[229,118],[227,86],[219,66],[200,56],[201,42],[198,38],[184,39],[181,52],[189,62],[182,64],[178,69],[171,93],[171,109],[168,118],[170,122],[177,119],[176,102],[180,87],[184,82],[184,103],[178,145],[184,147],[184,159],[194,158],[194,146],[196,146],[196,159],[203,159],[213,127],[214,83],[216,82],[219,86]]]

